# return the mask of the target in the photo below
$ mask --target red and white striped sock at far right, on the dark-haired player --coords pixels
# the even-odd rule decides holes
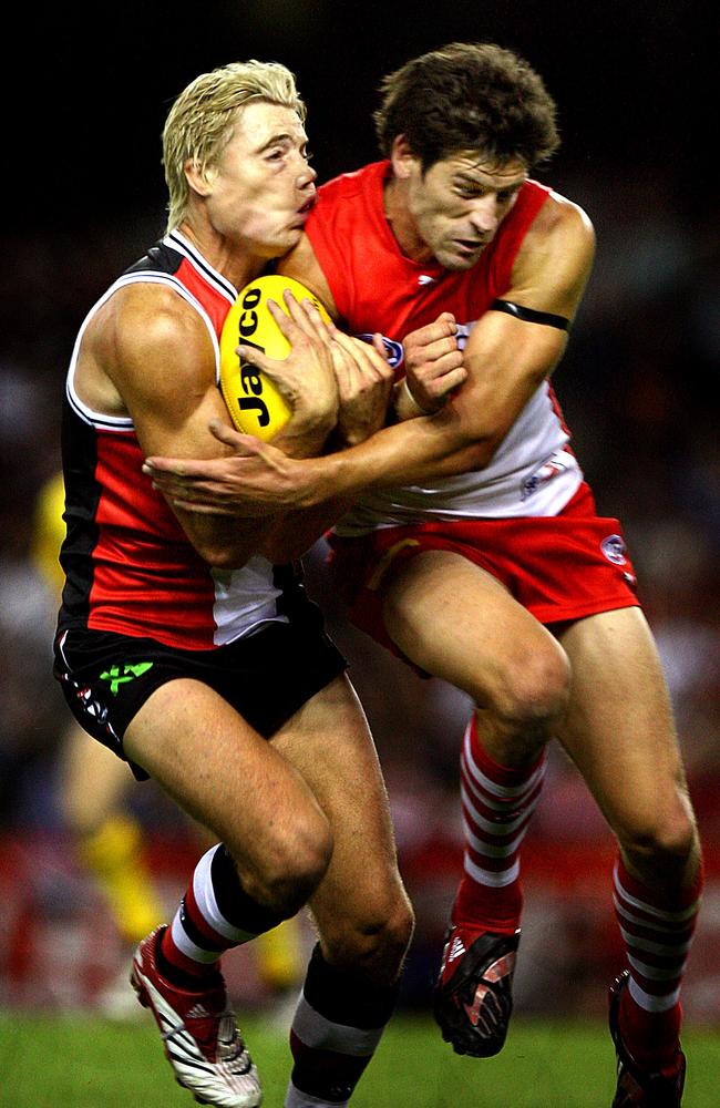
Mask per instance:
[[[692,885],[672,896],[632,878],[621,859],[613,876],[615,913],[630,971],[620,1001],[620,1034],[637,1061],[659,1068],[677,1051],[680,985],[700,906],[702,868]]]

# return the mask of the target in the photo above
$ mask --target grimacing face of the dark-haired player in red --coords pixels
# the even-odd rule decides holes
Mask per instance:
[[[476,153],[435,162],[423,175],[419,160],[409,165],[407,203],[411,225],[425,258],[446,269],[470,269],[492,242],[527,177],[518,160],[480,161]]]

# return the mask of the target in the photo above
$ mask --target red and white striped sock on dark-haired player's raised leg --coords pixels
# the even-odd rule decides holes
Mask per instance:
[[[452,922],[512,935],[523,907],[520,848],[543,788],[545,751],[523,769],[500,766],[483,748],[473,716],[460,769],[465,853]]]

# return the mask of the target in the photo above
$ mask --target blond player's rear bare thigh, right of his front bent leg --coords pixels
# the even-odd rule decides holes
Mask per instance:
[[[271,745],[297,767],[332,829],[332,861],[311,900],[321,932],[371,934],[409,916],[380,763],[348,678],[312,697]]]

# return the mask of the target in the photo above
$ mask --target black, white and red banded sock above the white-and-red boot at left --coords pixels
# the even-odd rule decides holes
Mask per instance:
[[[158,946],[161,972],[183,988],[204,988],[220,956],[280,923],[243,889],[227,848],[200,858],[193,880]]]

